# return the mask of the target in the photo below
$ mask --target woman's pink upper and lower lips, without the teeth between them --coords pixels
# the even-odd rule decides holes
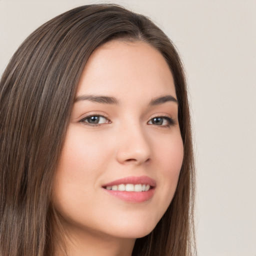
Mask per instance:
[[[113,186],[118,184],[149,184],[150,189],[148,191],[118,191],[118,190],[107,190],[106,186]],[[149,200],[155,191],[156,182],[154,179],[149,178],[148,176],[128,176],[125,178],[116,179],[109,183],[106,183],[102,186],[104,191],[111,196],[115,196],[121,200],[138,203]]]

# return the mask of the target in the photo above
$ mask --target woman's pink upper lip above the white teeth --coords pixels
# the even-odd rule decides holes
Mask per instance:
[[[149,184],[150,186],[155,186],[156,181],[148,176],[127,176],[110,181],[102,186],[113,186],[119,184]]]

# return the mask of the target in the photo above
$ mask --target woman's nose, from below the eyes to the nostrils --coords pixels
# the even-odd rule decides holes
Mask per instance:
[[[117,161],[122,164],[142,164],[151,157],[149,137],[141,127],[123,127],[119,132]]]

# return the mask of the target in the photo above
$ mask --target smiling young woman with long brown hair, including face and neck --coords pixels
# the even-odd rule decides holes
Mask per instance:
[[[185,77],[148,18],[51,19],[10,60],[0,106],[1,256],[194,253]]]

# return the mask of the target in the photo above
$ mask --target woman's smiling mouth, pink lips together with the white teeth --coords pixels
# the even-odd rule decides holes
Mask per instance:
[[[138,203],[149,200],[155,186],[155,180],[148,176],[128,176],[104,184],[102,188],[118,199]]]

